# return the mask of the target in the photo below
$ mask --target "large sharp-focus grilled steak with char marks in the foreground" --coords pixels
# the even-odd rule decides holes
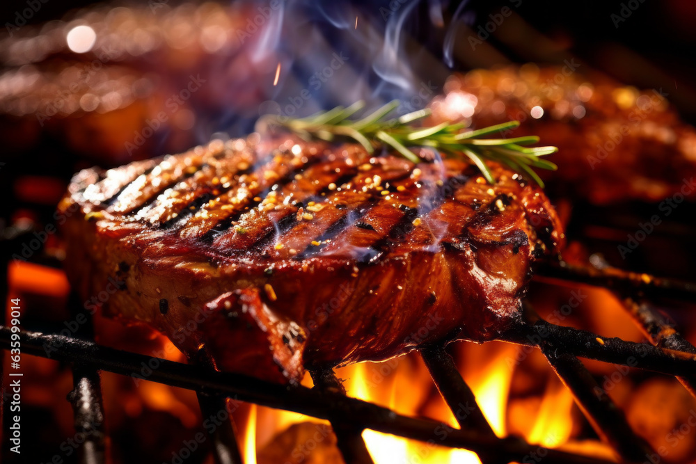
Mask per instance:
[[[457,159],[288,138],[83,170],[59,206],[66,267],[85,298],[120,283],[106,315],[271,381],[485,341],[562,241],[544,193],[491,169],[495,186]]]

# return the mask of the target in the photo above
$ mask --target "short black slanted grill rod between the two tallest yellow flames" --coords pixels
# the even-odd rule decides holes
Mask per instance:
[[[491,438],[498,438],[476,402],[474,392],[459,374],[452,356],[445,351],[445,347],[429,346],[423,348],[420,350],[420,356],[423,358],[438,392],[452,411],[454,419],[457,419],[459,427],[477,430]],[[484,464],[508,462],[496,458],[495,454],[482,454],[479,458]]]

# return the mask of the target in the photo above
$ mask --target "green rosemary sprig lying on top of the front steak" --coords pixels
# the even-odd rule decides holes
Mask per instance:
[[[537,136],[484,138],[497,132],[518,127],[519,122],[517,121],[505,122],[475,131],[465,131],[464,125],[452,122],[443,122],[433,127],[416,127],[413,122],[425,118],[430,114],[430,111],[413,111],[413,113],[402,115],[399,118],[386,119],[387,115],[399,106],[397,100],[361,119],[349,119],[364,106],[364,102],[357,102],[347,108],[337,106],[329,111],[321,111],[307,118],[299,119],[267,115],[259,120],[257,129],[263,130],[269,125],[278,125],[290,129],[306,140],[320,138],[325,141],[334,141],[337,137],[352,138],[370,153],[374,152],[375,148],[386,145],[413,163],[427,160],[418,156],[409,147],[430,147],[450,156],[468,158],[481,170],[490,184],[495,184],[496,179],[493,179],[491,170],[484,162],[487,159],[509,166],[512,170],[529,177],[542,187],[544,182],[541,182],[533,168],[556,169],[554,163],[540,158],[556,152],[558,150],[556,147],[523,146],[537,143],[539,141]]]

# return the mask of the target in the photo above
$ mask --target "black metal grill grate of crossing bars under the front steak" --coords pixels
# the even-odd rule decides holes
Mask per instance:
[[[595,273],[592,269],[572,269],[569,266],[564,266],[564,269],[571,269],[569,273],[562,275],[565,280],[585,282],[585,275]],[[615,275],[618,275],[617,272],[619,271],[612,271]],[[596,275],[595,279],[598,279]],[[625,279],[601,279],[604,287],[618,288],[617,292],[626,294]],[[651,276],[641,278],[640,281],[645,285],[648,285],[647,282],[661,282],[653,289],[660,289],[658,291],[670,295],[670,289],[674,289],[677,284],[681,289],[677,296],[693,294],[694,287],[683,282],[660,280]],[[598,280],[592,281],[595,285],[597,282]],[[635,321],[656,346],[626,342],[619,338],[603,338],[585,330],[556,326],[539,319],[528,305],[525,306],[524,319],[503,334],[500,340],[541,349],[557,376],[574,394],[580,409],[597,433],[624,461],[642,462],[653,451],[647,442],[631,430],[615,403],[606,395],[595,394],[599,385],[578,357],[616,365],[628,365],[630,358],[633,367],[677,376],[690,387],[690,377],[696,369],[696,349],[673,330],[667,334],[664,321],[658,319],[658,314],[651,310],[649,305],[639,305],[631,298],[627,298],[626,302],[626,311],[634,316]],[[91,328],[86,326],[84,333],[80,334],[81,337],[24,332],[21,333],[21,341],[25,353],[45,358],[49,357],[43,349],[45,344],[58,346],[50,358],[72,363],[74,390],[69,399],[74,408],[75,428],[77,431],[84,431],[88,437],[81,448],[80,462],[100,464],[106,462],[106,454],[99,371],[134,376],[139,372],[141,363],[148,365],[153,358],[97,345],[90,341]],[[0,326],[1,349],[9,348],[10,335],[9,328]],[[532,453],[545,456],[544,461],[548,463],[608,462],[599,458],[537,447],[520,438],[498,438],[444,346],[424,347],[420,350],[420,355],[460,426],[460,429],[453,430],[441,440],[441,445],[475,451],[484,464],[521,462]],[[329,420],[347,464],[372,463],[361,437],[364,429],[427,442],[432,440],[434,429],[440,425],[431,419],[406,417],[374,403],[347,397],[342,384],[331,369],[311,371],[315,387],[309,389],[302,386],[276,385],[240,374],[215,371],[203,362],[188,365],[157,359],[157,363],[160,367],[152,371],[148,380],[196,391],[204,415],[206,411],[221,410],[227,398],[231,397],[239,401]],[[693,394],[693,389],[689,390]],[[464,418],[457,414],[462,404],[468,408],[470,406],[469,409],[472,411]],[[235,426],[231,420],[226,426],[215,431],[213,444],[216,463],[242,463],[235,439]]]

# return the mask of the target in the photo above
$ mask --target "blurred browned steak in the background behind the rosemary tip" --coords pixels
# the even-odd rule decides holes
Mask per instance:
[[[660,89],[642,92],[583,72],[529,63],[456,74],[431,104],[433,124],[521,121],[506,136],[537,135],[559,148],[551,158],[558,170],[539,172],[552,198],[599,205],[659,202],[677,192],[696,198],[696,130]]]

